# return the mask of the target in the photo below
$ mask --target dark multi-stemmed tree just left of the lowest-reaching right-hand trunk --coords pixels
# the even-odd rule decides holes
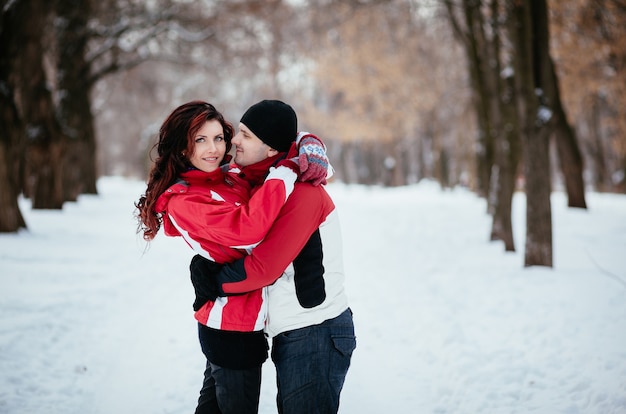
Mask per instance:
[[[479,194],[492,214],[491,240],[515,250],[511,208],[520,159],[519,121],[515,110],[511,55],[501,22],[501,1],[445,1],[448,19],[463,44],[476,110]]]

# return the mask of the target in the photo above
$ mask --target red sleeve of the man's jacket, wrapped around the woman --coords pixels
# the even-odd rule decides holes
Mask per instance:
[[[321,186],[296,183],[291,197],[263,242],[246,256],[245,280],[224,283],[223,291],[243,293],[274,283],[334,208]]]

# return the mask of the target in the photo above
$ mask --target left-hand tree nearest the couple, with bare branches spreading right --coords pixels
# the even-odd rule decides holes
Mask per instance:
[[[99,176],[92,90],[96,82],[155,59],[178,12],[170,2],[59,1],[55,25],[58,114],[67,140],[66,200],[96,194]],[[159,50],[157,50],[157,53]],[[164,56],[165,58],[165,56]]]

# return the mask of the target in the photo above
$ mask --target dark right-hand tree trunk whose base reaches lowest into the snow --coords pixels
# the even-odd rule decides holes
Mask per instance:
[[[531,5],[530,3],[533,3]],[[525,266],[552,267],[552,209],[550,205],[549,125],[542,118],[536,93],[541,88],[538,50],[541,26],[547,25],[545,2],[509,2],[515,49],[515,89],[523,143],[526,178]],[[535,23],[536,25],[533,25]]]

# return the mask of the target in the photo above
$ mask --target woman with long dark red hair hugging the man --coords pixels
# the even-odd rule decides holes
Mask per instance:
[[[196,253],[226,263],[263,239],[293,190],[298,164],[280,160],[284,153],[268,160],[277,167],[250,197],[248,182],[228,171],[232,137],[232,125],[206,102],[183,104],[168,116],[146,193],[136,203],[145,240],[163,226],[166,235],[182,236]],[[199,323],[219,333],[210,343],[200,337],[205,377],[212,381],[205,382],[196,413],[256,413],[268,356],[265,289],[194,304],[194,310]]]

